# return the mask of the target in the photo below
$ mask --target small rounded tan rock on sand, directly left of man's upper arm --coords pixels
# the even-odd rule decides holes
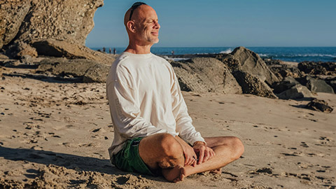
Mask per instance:
[[[105,83],[109,74],[110,66],[104,64],[95,64],[85,72],[83,76],[84,83]]]

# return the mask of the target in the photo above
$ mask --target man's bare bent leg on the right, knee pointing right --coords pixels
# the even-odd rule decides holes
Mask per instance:
[[[221,169],[221,167],[237,160],[244,153],[244,146],[236,137],[209,137],[205,138],[205,141],[207,142],[207,146],[212,148],[216,155],[196,167],[190,165],[180,167],[180,176],[174,179],[174,182],[182,181],[190,174]]]

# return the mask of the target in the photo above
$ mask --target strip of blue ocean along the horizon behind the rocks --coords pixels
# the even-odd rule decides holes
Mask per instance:
[[[246,47],[265,59],[281,59],[286,62],[336,62],[336,47]],[[102,50],[102,48],[91,48]],[[112,52],[113,52],[113,48]],[[155,55],[185,55],[185,54],[209,54],[209,53],[230,53],[235,47],[213,47],[213,48],[151,48]],[[116,48],[120,54],[125,48]],[[106,48],[109,52],[109,48]]]

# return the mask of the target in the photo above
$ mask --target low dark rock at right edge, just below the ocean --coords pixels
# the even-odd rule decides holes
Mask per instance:
[[[297,67],[312,75],[336,76],[336,62],[300,62]]]

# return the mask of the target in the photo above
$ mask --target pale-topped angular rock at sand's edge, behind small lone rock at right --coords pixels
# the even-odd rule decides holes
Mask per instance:
[[[313,94],[311,94],[307,87],[297,84],[280,94],[276,94],[276,96],[279,99],[310,99],[313,97]]]

